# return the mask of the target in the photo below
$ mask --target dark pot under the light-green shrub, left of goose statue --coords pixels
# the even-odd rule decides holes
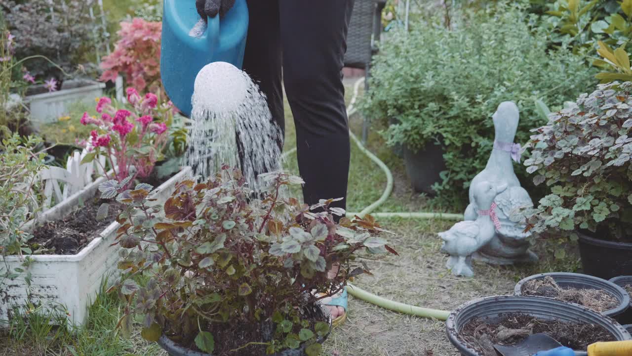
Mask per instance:
[[[403,153],[406,174],[408,174],[413,189],[418,193],[423,192],[434,196],[436,192],[432,189],[432,184],[441,181],[439,174],[447,169],[441,146],[431,141],[424,148],[415,152],[404,144]]]

